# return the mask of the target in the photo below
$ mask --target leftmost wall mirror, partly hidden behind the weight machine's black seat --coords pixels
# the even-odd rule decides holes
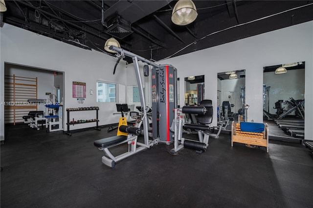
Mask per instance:
[[[204,75],[185,77],[185,105],[198,105],[204,99]]]

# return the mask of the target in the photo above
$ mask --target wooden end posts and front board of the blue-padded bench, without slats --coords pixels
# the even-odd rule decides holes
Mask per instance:
[[[249,132],[247,132],[248,134]],[[263,132],[263,139],[243,137],[236,135],[236,123],[233,121],[231,125],[231,146],[233,147],[233,142],[252,144],[257,146],[266,147],[266,152],[268,153],[268,124],[265,123],[265,130]]]

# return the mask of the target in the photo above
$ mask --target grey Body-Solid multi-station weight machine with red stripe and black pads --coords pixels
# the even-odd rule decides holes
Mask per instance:
[[[185,147],[190,147],[193,149],[196,149],[197,151],[205,151],[208,145],[208,139],[210,136],[210,133],[207,133],[210,131],[210,127],[208,125],[201,125],[201,124],[196,124],[198,127],[200,126],[200,130],[203,131],[203,138],[199,138],[200,141],[190,141],[188,139],[183,139],[182,137],[177,137],[178,135],[181,136],[182,134],[182,126],[179,125],[179,129],[177,128],[178,125],[176,123],[179,122],[179,124],[182,124],[182,118],[179,116],[180,120],[178,119],[178,112],[181,111],[182,113],[193,113],[193,114],[205,114],[208,110],[204,106],[196,106],[196,107],[191,107],[191,106],[185,106],[185,107],[191,107],[192,109],[186,109],[183,107],[182,110],[177,108],[177,99],[176,99],[176,94],[177,94],[177,89],[176,89],[176,82],[177,82],[177,77],[176,77],[176,69],[171,66],[171,65],[156,65],[155,63],[146,60],[140,56],[135,55],[134,53],[128,52],[123,50],[122,48],[118,48],[115,46],[110,46],[110,49],[117,51],[118,55],[117,56],[130,56],[133,58],[133,63],[134,63],[134,69],[135,69],[135,74],[137,78],[137,83],[138,83],[138,89],[139,89],[139,95],[140,95],[140,104],[141,106],[146,106],[145,104],[145,98],[144,98],[144,93],[143,93],[143,85],[142,85],[142,80],[141,80],[141,75],[139,71],[139,65],[138,65],[138,60],[150,64],[153,66],[155,69],[152,69],[152,80],[155,79],[154,81],[159,81],[155,82],[155,85],[152,86],[152,113],[153,113],[153,119],[158,121],[158,123],[154,122],[153,123],[153,128],[156,128],[159,131],[153,131],[153,138],[149,139],[149,119],[148,119],[148,111],[149,109],[147,108],[141,108],[142,114],[137,115],[135,126],[134,127],[129,127],[128,125],[125,125],[123,123],[119,123],[119,131],[124,134],[124,135],[117,135],[109,138],[104,138],[104,139],[98,139],[94,141],[94,145],[101,151],[104,152],[104,156],[102,157],[102,162],[109,167],[114,167],[115,162],[119,162],[125,158],[128,158],[136,153],[139,153],[141,151],[144,151],[146,149],[150,149],[153,145],[158,144],[158,142],[164,141],[164,142],[171,142],[173,141],[173,134],[175,135],[175,141],[174,141],[174,153],[179,151],[183,146]],[[156,72],[156,73],[154,73]],[[148,76],[146,72],[144,72],[145,76]],[[158,103],[159,102],[159,103]],[[168,105],[164,106],[162,104],[168,103]],[[174,108],[171,107],[171,105],[174,104]],[[123,106],[123,104],[122,104]],[[124,105],[125,106],[125,105]],[[117,111],[120,111],[121,114],[128,110],[128,108],[125,106],[125,109],[123,108],[118,108],[117,106]],[[199,109],[200,108],[200,109]],[[174,109],[174,110],[173,110]],[[159,111],[157,111],[159,110]],[[162,111],[161,111],[162,110]],[[189,110],[189,111],[188,111]],[[164,112],[164,113],[163,113]],[[202,112],[202,113],[201,113]],[[213,105],[212,105],[212,112],[213,114]],[[211,113],[209,116],[213,116]],[[122,115],[123,116],[123,115]],[[170,130],[170,120],[174,118],[174,133],[171,132]],[[123,118],[123,117],[122,117]],[[122,119],[120,118],[120,119]],[[124,120],[123,120],[124,121]],[[125,119],[126,121],[126,119]],[[158,125],[159,124],[159,125]],[[142,129],[143,126],[143,129]],[[201,129],[203,127],[203,129]],[[113,128],[113,127],[112,127]],[[196,130],[196,128],[195,128]],[[138,142],[137,138],[138,135],[143,132],[144,140],[143,142]],[[180,133],[179,133],[180,132]],[[159,133],[159,134],[156,134]],[[202,135],[201,135],[202,136]],[[211,135],[213,136],[213,135]],[[218,137],[218,136],[217,136]],[[217,138],[216,137],[216,138]],[[112,152],[110,151],[111,147],[120,145],[120,144],[128,144],[128,148],[126,152],[114,156]],[[182,147],[181,147],[182,145]]]

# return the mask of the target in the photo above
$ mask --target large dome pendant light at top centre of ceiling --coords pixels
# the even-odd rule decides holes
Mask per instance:
[[[172,22],[177,25],[186,25],[194,22],[197,16],[197,8],[192,0],[179,0],[172,12]]]

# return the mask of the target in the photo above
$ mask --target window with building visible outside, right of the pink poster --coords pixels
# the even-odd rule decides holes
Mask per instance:
[[[116,84],[97,81],[97,102],[116,102]]]

